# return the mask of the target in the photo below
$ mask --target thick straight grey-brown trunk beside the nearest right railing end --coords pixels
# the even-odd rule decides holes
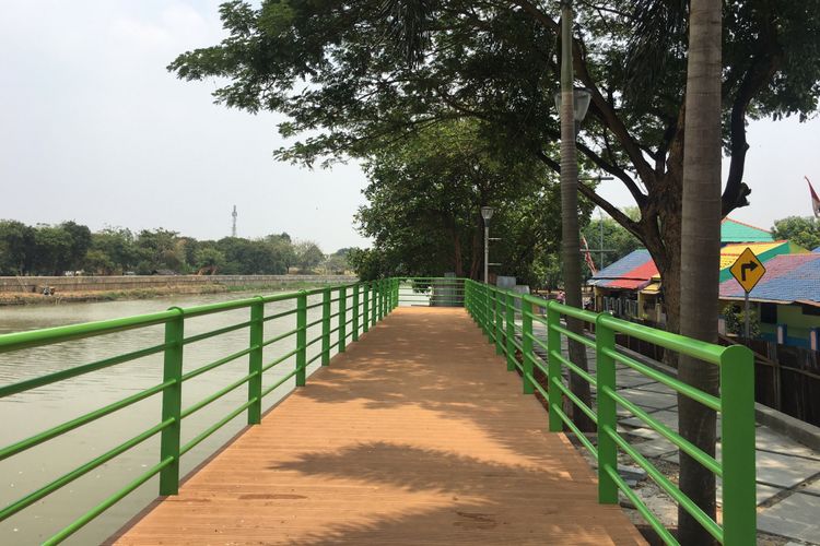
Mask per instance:
[[[717,342],[721,261],[721,29],[719,0],[692,0],[687,75],[683,154],[680,333]],[[681,355],[679,378],[717,394],[717,367]],[[706,453],[715,453],[715,412],[678,395],[680,434]],[[715,519],[715,476],[680,453],[680,488]],[[678,508],[681,544],[714,544],[712,536]]]

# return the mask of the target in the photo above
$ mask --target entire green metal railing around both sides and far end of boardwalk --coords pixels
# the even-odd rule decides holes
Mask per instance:
[[[279,301],[292,301],[294,307],[285,311],[278,310],[272,314],[266,314],[266,305]],[[319,360],[321,365],[328,365],[332,351],[344,352],[349,341],[358,341],[361,334],[367,332],[399,305],[466,307],[490,342],[494,344],[496,353],[505,357],[507,369],[520,371],[524,393],[532,394],[538,391],[548,401],[550,430],[560,431],[565,426],[576,434],[578,440],[598,460],[600,502],[618,502],[618,490],[620,489],[667,544],[677,544],[671,533],[664,527],[659,519],[652,513],[618,474],[617,458],[620,449],[623,453],[633,458],[661,489],[689,511],[715,538],[730,546],[754,544],[753,360],[748,348],[742,346],[721,347],[701,343],[618,320],[609,314],[582,311],[554,301],[547,302],[529,295],[515,294],[473,281],[454,277],[385,278],[294,294],[257,296],[186,309],[172,308],[162,312],[125,319],[0,335],[0,353],[8,353],[153,325],[164,325],[163,339],[157,340],[154,345],[149,347],[14,384],[0,385],[0,399],[3,399],[145,356],[163,354],[163,379],[160,383],[0,449],[0,461],[23,454],[40,443],[162,393],[162,414],[159,423],[0,509],[0,521],[14,515],[156,435],[160,435],[160,453],[156,464],[51,536],[46,544],[57,544],[63,541],[153,476],[160,476],[161,495],[176,494],[179,487],[179,461],[184,454],[243,412],[247,413],[248,425],[260,423],[265,396],[268,396],[273,390],[291,379],[294,379],[297,387],[304,385],[307,380],[307,367],[311,364]],[[336,307],[335,312],[333,307]],[[185,334],[186,321],[192,318],[241,309],[248,310],[248,320],[201,334],[188,336]],[[308,311],[314,309],[317,310],[313,312],[314,314],[320,311],[320,318],[308,322]],[[546,317],[543,312],[546,312]],[[520,317],[520,324],[516,321],[517,317]],[[562,324],[562,317],[595,323],[596,336],[593,339],[587,335],[575,334]],[[286,331],[284,333],[266,340],[266,324],[271,321],[291,322],[285,324]],[[536,324],[546,329],[546,343],[542,337],[536,335],[534,330]],[[246,348],[184,372],[183,364],[186,346],[242,329],[247,329],[249,332]],[[317,335],[311,337],[312,332],[317,333]],[[713,396],[693,389],[677,378],[649,368],[623,354],[614,343],[617,333],[625,333],[718,366],[722,384],[721,396]],[[587,372],[562,355],[562,336],[575,340],[597,352],[597,372]],[[308,337],[311,339],[308,340]],[[292,342],[292,349],[284,351],[283,354],[277,355],[271,361],[265,363],[263,348],[277,342]],[[316,355],[308,358],[307,348],[314,344],[318,344],[320,348]],[[549,355],[549,357],[542,358],[539,356],[539,352]],[[518,355],[520,355],[520,359]],[[247,357],[247,375],[210,396],[188,407],[183,407],[181,393],[186,381],[243,357]],[[294,368],[284,377],[278,378],[272,385],[262,389],[263,373],[289,360],[295,361]],[[721,412],[723,414],[723,453],[721,461],[718,462],[715,458],[702,452],[669,427],[619,394],[616,388],[616,363],[621,363],[637,370],[675,389],[677,392]],[[536,369],[539,369],[547,377],[547,385],[536,380]],[[562,378],[564,369],[572,370],[583,377],[597,390],[597,407],[588,407],[570,391]],[[235,391],[243,384],[247,385],[247,400],[243,404],[187,443],[181,443],[180,429],[186,417]],[[572,419],[563,412],[562,399],[564,396],[596,424],[598,431],[597,447],[577,429]],[[673,483],[618,432],[616,427],[616,408],[618,405],[631,412],[648,427],[723,479],[723,525],[718,525],[704,514]]]

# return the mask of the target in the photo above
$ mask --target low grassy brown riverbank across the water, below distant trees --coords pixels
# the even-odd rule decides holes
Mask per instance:
[[[271,283],[253,284],[222,284],[222,283],[197,283],[197,284],[166,284],[164,286],[147,286],[140,288],[125,289],[94,289],[94,290],[55,290],[54,295],[44,296],[35,292],[0,292],[0,307],[2,306],[46,306],[70,302],[90,301],[117,301],[128,299],[153,299],[184,294],[225,294],[233,292],[257,292],[266,294],[270,292],[301,290],[315,288],[325,284],[345,284],[348,277],[325,277],[324,282],[317,278],[289,278],[276,280]],[[337,281],[337,282],[332,282]]]

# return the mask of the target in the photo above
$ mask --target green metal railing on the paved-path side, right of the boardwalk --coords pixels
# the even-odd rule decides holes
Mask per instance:
[[[647,475],[703,525],[715,539],[730,546],[755,544],[754,360],[747,347],[712,345],[619,320],[608,313],[584,311],[557,301],[548,302],[529,295],[499,289],[473,281],[466,281],[465,290],[467,310],[489,341],[495,345],[496,353],[505,356],[507,369],[517,369],[522,372],[524,393],[531,394],[537,390],[548,401],[549,429],[561,431],[565,426],[598,461],[599,502],[617,503],[620,489],[666,544],[678,544],[675,536],[618,474],[620,449],[646,471]],[[516,323],[516,313],[520,314],[520,325]],[[595,324],[595,336],[571,331],[562,323],[562,318]],[[546,343],[534,332],[534,323],[540,323],[546,329]],[[619,333],[717,366],[721,376],[719,397],[694,389],[619,351],[616,345],[616,334]],[[563,356],[562,336],[596,352],[596,372],[590,373]],[[544,353],[547,358],[540,357],[536,349]],[[520,353],[520,361],[516,358],[517,352]],[[616,387],[616,363],[621,363],[719,412],[723,418],[721,461],[703,452],[619,394]],[[535,369],[539,369],[547,377],[547,385],[536,380]],[[589,407],[567,388],[563,380],[564,369],[581,376],[597,390],[597,407]],[[564,413],[563,397],[569,399],[596,424],[597,447]],[[617,406],[619,405],[723,479],[723,525],[705,514],[677,485],[618,432]]]

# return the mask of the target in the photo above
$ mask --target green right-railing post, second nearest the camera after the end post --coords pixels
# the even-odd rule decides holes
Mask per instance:
[[[614,331],[607,327],[609,314],[600,313],[595,321],[596,370],[598,376],[598,502],[618,503],[618,486],[609,472],[618,472],[618,446],[610,435],[616,434],[616,361],[605,349],[614,351]],[[552,385],[550,385],[552,387]],[[609,472],[608,472],[609,471]]]

